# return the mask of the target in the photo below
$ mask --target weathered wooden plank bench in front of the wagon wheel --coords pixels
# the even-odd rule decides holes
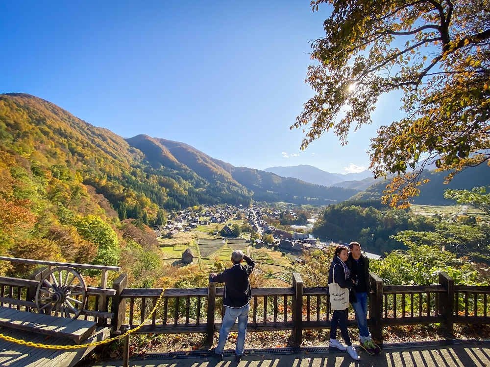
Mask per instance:
[[[97,323],[94,321],[36,314],[8,307],[0,307],[0,325],[12,329],[68,338],[77,344],[91,336],[97,327]]]

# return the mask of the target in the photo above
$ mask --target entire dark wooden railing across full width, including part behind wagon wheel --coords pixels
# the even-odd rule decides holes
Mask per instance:
[[[0,260],[25,259],[0,257]],[[98,268],[102,272],[118,270],[87,264],[29,261],[48,267]],[[38,269],[30,279],[0,276],[0,306],[33,311],[36,287],[47,271],[46,268]],[[383,327],[389,325],[437,322],[444,336],[451,339],[454,323],[490,323],[489,286],[455,285],[444,272],[439,273],[438,284],[387,286],[373,273],[369,274],[369,280],[368,325],[373,339],[380,344]],[[126,288],[125,274],[117,277],[112,288],[106,283],[105,273],[100,287],[88,287],[89,301],[80,318],[111,326],[114,334],[140,325],[162,292],[162,289]],[[209,283],[207,288],[166,289],[156,312],[136,333],[205,333],[206,344],[211,344],[224,315],[222,297],[223,288],[217,288],[216,283]],[[252,288],[250,310],[248,331],[290,330],[295,346],[301,345],[302,330],[330,327],[328,289],[303,287],[298,273],[293,274],[291,287]],[[349,312],[348,323],[356,325],[353,312]]]

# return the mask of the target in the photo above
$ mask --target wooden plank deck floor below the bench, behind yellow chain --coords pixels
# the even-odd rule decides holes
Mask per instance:
[[[34,343],[51,345],[73,345],[74,342],[66,338],[55,338],[41,334],[34,334],[21,330],[0,327],[0,333],[16,339]],[[110,335],[110,328],[98,328],[94,335],[84,341],[84,344],[105,340]],[[8,367],[71,367],[85,357],[94,347],[55,350],[34,348],[26,345],[0,340],[0,366]]]

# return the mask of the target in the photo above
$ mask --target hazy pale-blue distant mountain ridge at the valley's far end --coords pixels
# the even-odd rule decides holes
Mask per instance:
[[[323,186],[337,185],[343,181],[360,181],[373,177],[372,172],[368,170],[358,173],[331,173],[309,164],[269,167],[264,171],[272,172],[282,177],[293,177],[304,182]]]

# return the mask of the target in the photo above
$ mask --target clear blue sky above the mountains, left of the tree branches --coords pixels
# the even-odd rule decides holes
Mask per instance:
[[[0,92],[24,92],[125,138],[186,142],[236,166],[368,167],[376,128],[399,96],[341,146],[324,135],[300,151],[289,130],[313,95],[310,41],[328,7],[296,1],[0,0]]]

